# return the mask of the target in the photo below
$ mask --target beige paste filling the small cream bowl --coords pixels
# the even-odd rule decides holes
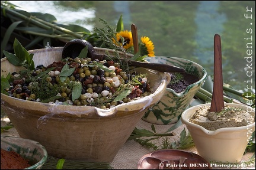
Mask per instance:
[[[210,106],[199,107],[190,122],[203,126],[207,130],[216,130],[220,128],[234,128],[252,124],[254,116],[244,109],[238,107],[225,106],[222,112],[210,112]]]

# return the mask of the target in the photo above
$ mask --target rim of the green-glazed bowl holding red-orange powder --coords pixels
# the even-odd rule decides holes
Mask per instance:
[[[6,139],[6,140],[5,140]],[[31,166],[28,166],[27,168],[24,169],[36,169],[37,166],[41,165],[43,166],[44,163],[46,163],[47,161],[47,157],[48,157],[48,153],[46,151],[46,148],[44,148],[43,145],[41,145],[39,142],[37,142],[36,140],[31,140],[31,139],[25,139],[25,138],[20,138],[17,136],[1,136],[1,142],[6,141],[6,142],[11,142],[11,139],[18,139],[18,140],[23,140],[23,141],[27,141],[32,143],[33,145],[37,145],[41,148],[41,150],[43,151],[43,158],[40,159],[40,161],[38,161],[36,164],[33,164]],[[2,145],[1,145],[2,146]],[[2,148],[1,148],[2,149]],[[5,149],[4,149],[5,150]]]

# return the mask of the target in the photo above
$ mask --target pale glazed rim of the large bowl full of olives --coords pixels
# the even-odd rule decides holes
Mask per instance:
[[[106,51],[107,50],[107,51],[110,51],[111,53],[114,52],[114,50],[111,50],[111,49],[108,49],[108,48],[97,48],[97,47],[94,47],[94,48],[95,48],[95,50],[100,50],[100,51]],[[58,53],[62,53],[62,49],[63,49],[63,47],[39,48],[39,49],[36,49],[36,50],[28,50],[28,52],[29,53],[40,54],[40,53],[45,53],[45,51],[48,51],[48,53],[50,53],[50,52],[55,53],[57,51]],[[120,53],[121,53],[121,51],[120,51]],[[132,54],[127,54],[127,55],[132,55]],[[4,60],[7,60],[7,58],[6,57],[1,58],[1,62],[4,61]],[[138,68],[131,68],[131,69],[142,69],[142,70],[148,70],[148,71],[152,72],[152,70],[147,69],[147,68],[138,67]],[[139,100],[133,100],[129,103],[119,104],[118,106],[113,107],[112,109],[100,109],[100,108],[94,107],[94,106],[68,106],[68,107],[72,108],[71,112],[72,112],[73,115],[83,115],[83,114],[87,115],[87,112],[93,111],[93,112],[95,112],[96,116],[98,116],[98,117],[111,117],[111,116],[116,115],[117,111],[119,111],[119,110],[126,112],[127,111],[127,104],[135,104],[136,106],[140,106],[141,109],[143,110],[146,107],[150,106],[151,104],[158,102],[159,99],[161,99],[161,96],[164,95],[164,91],[166,89],[167,83],[171,79],[171,77],[168,73],[163,73],[163,72],[155,71],[155,70],[153,70],[153,72],[155,72],[154,74],[158,74],[158,76],[160,76],[162,79],[159,82],[156,82],[156,83],[158,83],[158,86],[152,87],[152,88],[154,88],[154,91],[153,91],[152,94],[149,94],[149,96],[142,97]],[[17,99],[15,97],[10,97],[10,96],[8,96],[7,94],[4,94],[4,93],[1,93],[1,98],[8,99],[8,101],[13,100],[14,102],[20,102],[20,103],[21,102],[28,102],[28,103],[34,104],[31,101],[24,100],[24,99]],[[57,106],[57,104],[41,103],[41,102],[39,102],[37,104],[40,104],[40,106],[43,107],[43,109],[48,110],[48,112],[50,112],[49,108],[50,109],[55,109],[54,107]],[[23,107],[25,107],[25,106],[23,106]],[[65,110],[66,107],[67,106],[65,106],[65,105],[60,105],[61,110]],[[85,110],[85,108],[86,108],[86,110]],[[34,108],[34,109],[36,109],[36,108]],[[55,109],[54,111],[57,112],[58,110],[59,109]],[[133,110],[137,110],[137,108],[135,108]],[[131,111],[133,111],[133,110],[131,110]],[[83,113],[83,114],[81,114],[81,113]]]

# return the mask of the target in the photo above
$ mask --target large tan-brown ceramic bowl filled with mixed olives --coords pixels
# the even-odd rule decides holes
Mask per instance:
[[[35,66],[48,66],[53,61],[60,61],[62,50],[63,47],[56,47],[28,52],[34,54]],[[95,48],[97,53],[105,53],[105,50]],[[19,69],[6,58],[1,59],[1,76],[18,72]],[[30,102],[2,93],[1,106],[21,138],[39,141],[49,155],[81,161],[112,162],[146,110],[164,95],[170,80],[167,73],[139,67],[133,69],[147,75],[153,93],[112,109]]]

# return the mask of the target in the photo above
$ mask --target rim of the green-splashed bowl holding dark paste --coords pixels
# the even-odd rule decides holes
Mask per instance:
[[[153,57],[146,57],[145,60],[147,59],[150,59],[150,58],[153,58]],[[201,68],[201,70],[203,71],[203,76],[201,77],[201,79],[199,79],[198,81],[196,81],[195,83],[193,84],[190,84],[186,87],[185,90],[181,91],[180,93],[176,93],[174,90],[170,89],[170,88],[167,88],[167,91],[171,92],[172,94],[175,94],[175,96],[178,96],[178,97],[182,97],[184,96],[185,94],[188,93],[188,90],[191,89],[191,87],[195,86],[195,84],[201,82],[202,84],[204,83],[204,81],[207,79],[207,71],[205,70],[205,68],[203,66],[201,66],[200,64],[194,62],[194,61],[191,61],[191,60],[188,60],[188,59],[185,59],[185,58],[180,58],[180,57],[171,57],[171,56],[155,56],[155,58],[171,58],[171,59],[175,59],[175,60],[178,60],[178,61],[188,61],[188,62],[191,62],[193,63],[194,65],[196,65],[195,67],[197,68]],[[148,61],[148,60],[147,60]]]

